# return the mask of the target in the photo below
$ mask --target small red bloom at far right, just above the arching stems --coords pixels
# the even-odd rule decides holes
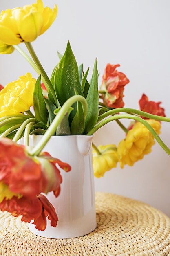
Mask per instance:
[[[161,117],[165,117],[165,110],[164,108],[161,108],[159,105],[161,102],[155,102],[155,101],[149,101],[148,97],[143,94],[141,99],[139,100],[139,106],[140,110],[153,114],[153,115],[158,115]],[[143,117],[144,119],[148,119],[146,117]]]

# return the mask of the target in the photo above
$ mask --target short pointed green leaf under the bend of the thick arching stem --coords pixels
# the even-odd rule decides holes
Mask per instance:
[[[75,94],[76,95],[78,94],[76,90],[75,90]],[[82,103],[77,101],[77,112],[70,126],[71,135],[82,135],[84,132],[84,127],[85,127],[85,120],[84,120]]]

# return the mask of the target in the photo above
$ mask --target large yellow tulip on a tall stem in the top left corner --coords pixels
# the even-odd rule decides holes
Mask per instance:
[[[7,45],[34,41],[51,26],[57,11],[57,5],[53,10],[44,8],[42,0],[37,0],[37,4],[2,11],[0,40]]]

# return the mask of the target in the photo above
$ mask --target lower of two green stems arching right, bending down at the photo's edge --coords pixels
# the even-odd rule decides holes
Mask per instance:
[[[119,115],[114,115],[112,117],[108,117],[107,119],[105,119],[102,122],[100,122],[99,124],[97,124],[86,135],[93,135],[99,128],[101,128],[105,124],[107,124],[113,120],[122,119],[122,118],[133,119],[133,120],[140,122],[141,124],[144,124],[144,126],[146,126],[146,128],[148,128],[148,130],[152,133],[153,137],[156,139],[156,141],[159,143],[159,145],[163,148],[163,150],[165,150],[165,152],[168,155],[170,155],[170,149],[163,143],[163,141],[161,140],[159,135],[157,135],[157,133],[155,132],[154,128],[152,128],[152,126],[150,126],[150,124],[145,119],[143,119],[141,117],[137,117],[135,115],[131,115],[131,114],[119,114]]]

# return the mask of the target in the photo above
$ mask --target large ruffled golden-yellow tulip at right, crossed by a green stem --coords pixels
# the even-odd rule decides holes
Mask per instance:
[[[149,119],[146,120],[157,134],[160,133],[161,123],[159,121]],[[155,140],[150,131],[140,122],[135,123],[132,130],[130,130],[125,139],[120,141],[117,147],[119,161],[121,168],[125,164],[133,166],[135,162],[143,159],[144,155],[152,150]]]

